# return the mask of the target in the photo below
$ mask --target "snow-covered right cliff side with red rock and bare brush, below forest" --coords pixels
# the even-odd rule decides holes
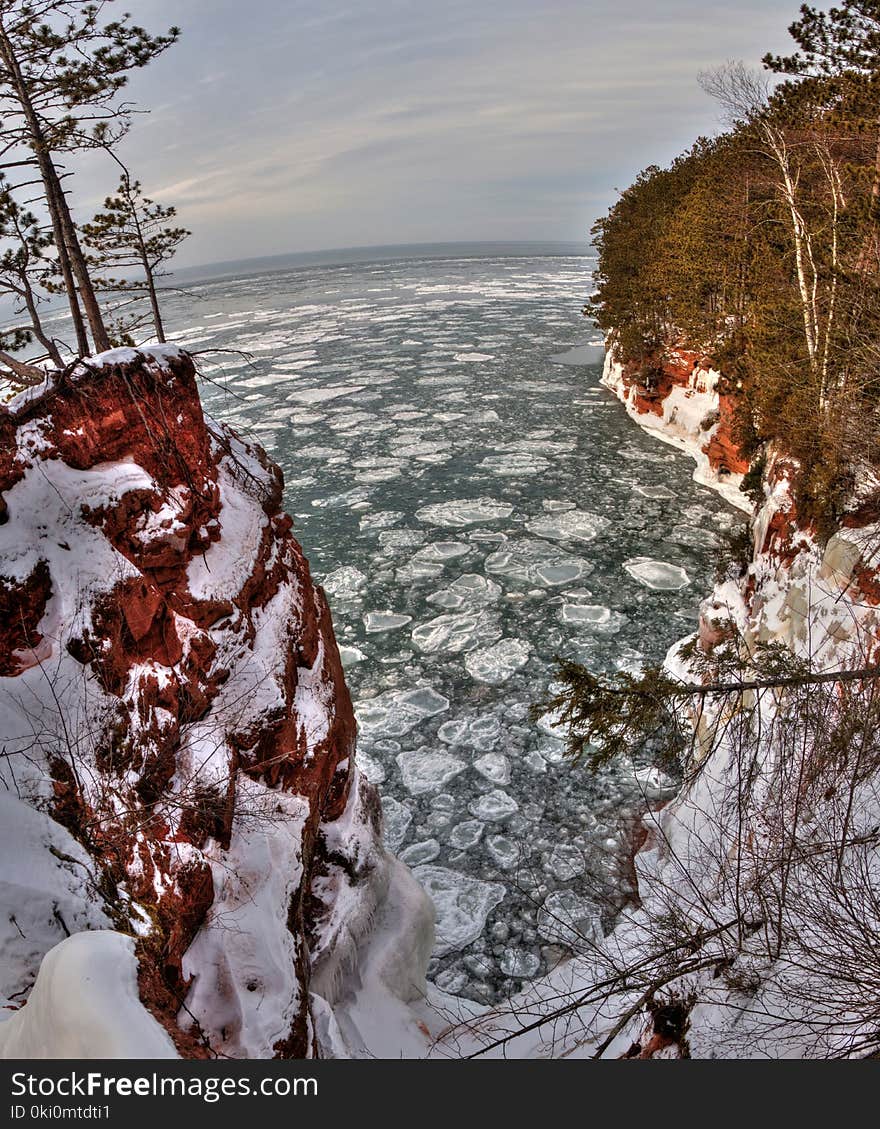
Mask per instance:
[[[880,690],[860,672],[880,664],[880,481],[866,469],[820,540],[781,453],[758,506],[739,491],[734,404],[697,353],[671,352],[645,384],[609,352],[603,384],[695,460],[697,481],[751,513],[750,559],[703,602],[668,671],[749,679],[763,654],[765,671],[828,682],[689,699],[685,782],[644,817],[637,903],[447,1039],[505,1057],[875,1054]]]

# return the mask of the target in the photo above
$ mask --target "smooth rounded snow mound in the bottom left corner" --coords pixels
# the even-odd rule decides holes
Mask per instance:
[[[168,1034],[138,998],[134,939],[75,933],[43,957],[27,1004],[0,1023],[5,1059],[169,1059]]]

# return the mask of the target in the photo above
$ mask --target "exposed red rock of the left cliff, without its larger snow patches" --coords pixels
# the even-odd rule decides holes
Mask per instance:
[[[119,465],[140,475],[97,504],[73,496],[68,506],[73,517],[63,536],[86,545],[87,557],[111,553],[119,566],[76,615],[58,596],[71,584],[53,555],[58,536],[24,578],[3,576],[0,562],[0,675],[20,681],[47,660],[80,671],[79,682],[94,686],[86,706],[77,699],[90,719],[77,754],[62,750],[44,767],[54,814],[96,859],[107,887],[124,891],[121,928],[131,920],[125,900],[140,905],[142,998],[182,1053],[204,1056],[210,1040],[199,1024],[186,1032],[178,1025],[189,986],[183,963],[215,900],[216,868],[242,833],[241,782],[260,782],[268,800],[290,793],[308,803],[294,844],[300,883],[279,909],[295,931],[320,824],[346,807],[355,720],[326,602],[281,511],[280,472],[261,450],[206,421],[189,356],[116,356],[0,409],[0,522],[7,500],[16,519],[16,490],[32,490],[36,506],[51,500],[41,495],[52,489],[41,485],[41,465],[61,464],[64,473],[110,466],[111,480]],[[37,443],[27,438],[35,427]],[[79,479],[70,481],[76,490]],[[225,506],[233,491],[251,499],[252,534]],[[200,558],[206,567],[193,593]],[[44,621],[53,616],[46,642]],[[272,645],[264,655],[267,624]],[[245,668],[264,676],[252,676],[239,706],[220,710],[219,698]],[[272,692],[262,706],[265,685]],[[188,742],[215,715],[204,773]],[[293,947],[302,954],[303,945],[297,937]],[[295,974],[307,975],[304,968]],[[281,1053],[310,1052],[307,1007],[304,986]]]

